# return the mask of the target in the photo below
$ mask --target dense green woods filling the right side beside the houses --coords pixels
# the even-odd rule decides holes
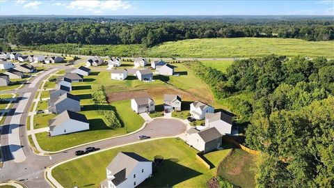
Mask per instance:
[[[248,122],[246,145],[260,150],[259,187],[334,186],[334,61],[264,56],[234,61],[226,74],[188,63],[218,102]],[[200,71],[199,71],[200,70]]]

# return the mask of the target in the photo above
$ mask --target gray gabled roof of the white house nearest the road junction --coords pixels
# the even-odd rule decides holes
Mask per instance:
[[[78,120],[83,123],[89,123],[84,114],[66,110],[60,113],[54,119],[49,120],[50,130],[54,130],[54,127],[65,123],[67,120]]]

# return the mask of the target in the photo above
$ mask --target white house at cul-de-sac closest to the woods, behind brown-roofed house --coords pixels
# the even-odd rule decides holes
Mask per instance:
[[[217,113],[205,114],[205,127],[216,127],[223,135],[231,134],[232,131],[232,116],[223,111]]]

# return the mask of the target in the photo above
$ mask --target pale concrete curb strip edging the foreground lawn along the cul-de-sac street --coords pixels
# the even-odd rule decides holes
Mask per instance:
[[[51,187],[57,187],[57,188],[63,187],[52,176],[52,170],[54,168],[56,168],[57,166],[61,165],[61,164],[65,164],[67,162],[71,162],[73,160],[80,159],[82,157],[86,157],[86,156],[89,156],[89,155],[94,155],[94,154],[99,153],[99,152],[104,152],[106,150],[112,150],[112,149],[120,148],[120,147],[123,147],[123,146],[129,146],[129,145],[136,144],[136,143],[143,143],[143,142],[154,141],[154,140],[159,140],[159,139],[173,139],[173,138],[177,138],[177,136],[164,136],[164,137],[160,137],[160,138],[148,139],[148,140],[143,140],[143,141],[136,141],[136,142],[132,142],[132,143],[125,143],[125,144],[122,144],[122,145],[119,145],[119,146],[113,146],[111,148],[105,148],[105,149],[102,149],[102,150],[98,150],[96,152],[90,152],[87,155],[81,155],[79,157],[73,157],[73,158],[70,158],[70,159],[66,159],[66,160],[64,160],[62,162],[58,162],[57,164],[53,164],[53,165],[47,167],[47,169],[44,171],[44,177],[45,177],[45,180],[47,180],[47,182],[49,183],[49,185],[51,185]]]

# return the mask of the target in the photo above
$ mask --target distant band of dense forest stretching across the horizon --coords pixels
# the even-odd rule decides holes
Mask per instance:
[[[106,20],[106,21],[105,21]],[[18,45],[143,44],[192,38],[278,37],[333,40],[333,19],[103,19],[3,17],[0,38]]]

